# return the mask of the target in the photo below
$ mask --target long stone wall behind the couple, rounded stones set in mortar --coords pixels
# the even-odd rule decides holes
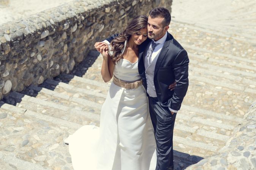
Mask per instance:
[[[171,0],[76,0],[0,25],[0,99],[69,73],[95,42]]]

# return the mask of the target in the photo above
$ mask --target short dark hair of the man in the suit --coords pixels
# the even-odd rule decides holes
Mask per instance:
[[[171,22],[171,14],[168,9],[164,7],[156,7],[149,11],[149,16],[154,19],[157,17],[164,18],[163,26],[168,26]]]

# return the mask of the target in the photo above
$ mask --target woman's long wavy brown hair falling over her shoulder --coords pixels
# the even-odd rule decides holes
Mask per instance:
[[[125,47],[125,40],[129,40],[130,37],[143,28],[147,28],[148,17],[145,15],[138,15],[130,24],[125,28],[119,36],[115,37],[110,43],[110,49],[114,52],[111,56],[111,60],[116,63],[122,59],[122,49]]]

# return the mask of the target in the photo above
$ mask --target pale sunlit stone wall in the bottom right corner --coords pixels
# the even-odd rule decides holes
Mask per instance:
[[[205,158],[187,170],[253,170],[256,169],[256,100],[233,131],[226,146],[216,155]]]

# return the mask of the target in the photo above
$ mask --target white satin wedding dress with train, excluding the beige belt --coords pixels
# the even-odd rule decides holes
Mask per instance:
[[[124,49],[123,49],[124,51]],[[115,77],[140,79],[138,62],[121,59]],[[68,138],[74,170],[155,170],[156,144],[145,88],[109,88],[100,127],[85,125]]]

